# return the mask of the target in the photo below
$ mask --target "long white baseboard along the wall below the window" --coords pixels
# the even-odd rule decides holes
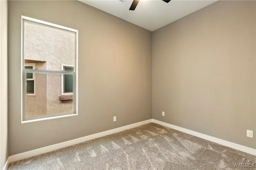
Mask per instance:
[[[110,135],[110,134],[113,134],[113,133],[117,133],[117,132],[120,132],[120,131],[131,129],[131,128],[134,128],[134,127],[137,127],[137,126],[140,126],[140,125],[144,125],[144,124],[150,123],[150,122],[152,122],[152,119],[149,119],[149,120],[146,120],[146,121],[141,121],[141,122],[134,123],[134,124],[131,124],[131,125],[126,125],[126,126],[123,126],[123,127],[118,127],[116,129],[111,129],[111,130],[108,130],[108,131],[96,133],[96,134],[89,135],[89,136],[86,136],[86,137],[81,137],[81,138],[78,138],[78,139],[73,139],[73,140],[70,140],[70,141],[58,143],[58,144],[55,144],[55,145],[50,145],[50,146],[47,146],[47,147],[30,150],[28,152],[23,152],[23,153],[20,153],[20,154],[14,154],[14,155],[8,157],[8,164],[10,164],[11,162],[17,161],[17,160],[21,160],[21,159],[24,159],[24,158],[29,158],[31,156],[44,154],[44,153],[47,153],[47,152],[51,152],[53,150],[62,149],[62,148],[65,148],[65,147],[76,145],[78,143],[83,143],[83,142],[86,142],[86,141],[90,141],[92,139],[96,139],[96,138],[99,138],[99,137],[103,137],[103,136],[106,136],[106,135]]]

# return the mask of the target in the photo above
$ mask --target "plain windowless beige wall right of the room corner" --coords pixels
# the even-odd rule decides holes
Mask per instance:
[[[218,1],[153,32],[153,119],[256,148],[255,7]]]

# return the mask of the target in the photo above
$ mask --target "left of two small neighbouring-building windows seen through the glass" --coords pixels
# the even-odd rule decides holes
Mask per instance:
[[[25,69],[36,69],[36,63],[25,63]],[[27,96],[36,96],[36,75],[27,73]]]

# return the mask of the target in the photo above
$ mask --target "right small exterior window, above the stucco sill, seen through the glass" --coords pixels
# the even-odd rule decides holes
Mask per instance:
[[[74,66],[61,64],[61,70],[74,72]],[[61,75],[61,95],[73,95],[73,75]]]

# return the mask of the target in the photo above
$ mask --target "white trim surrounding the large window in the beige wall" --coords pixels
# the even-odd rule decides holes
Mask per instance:
[[[42,25],[48,25],[49,27],[55,27],[56,29],[61,29],[61,30],[66,30],[66,31],[71,31],[75,33],[75,54],[74,54],[74,73],[73,77],[74,77],[74,86],[73,86],[73,112],[72,113],[60,113],[60,114],[52,114],[52,115],[42,115],[42,116],[36,116],[36,117],[27,117],[26,116],[26,88],[24,88],[25,83],[24,83],[24,39],[23,39],[23,32],[24,32],[24,20],[27,21],[32,21],[32,22],[36,22],[36,23],[40,23]],[[33,71],[34,72],[38,72],[40,73],[40,70],[27,70],[28,72]],[[51,71],[46,70],[46,72],[51,73]],[[57,74],[69,74],[69,73],[60,73],[61,71],[53,71],[52,73],[57,73]],[[50,22],[46,22],[46,21],[42,21],[42,20],[37,20],[34,18],[30,18],[30,17],[26,17],[26,16],[21,16],[21,123],[29,123],[29,122],[34,122],[34,121],[42,121],[42,120],[48,120],[48,119],[56,119],[56,118],[60,118],[60,117],[69,117],[72,115],[78,115],[77,112],[77,108],[78,108],[78,30],[76,29],[72,29],[72,28],[68,28],[68,27],[64,27],[61,25],[57,25],[54,23],[50,23]]]

